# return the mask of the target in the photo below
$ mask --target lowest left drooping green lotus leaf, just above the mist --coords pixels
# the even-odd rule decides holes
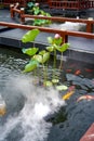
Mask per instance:
[[[24,73],[29,73],[32,72],[33,69],[36,69],[38,66],[38,62],[37,61],[30,61],[29,64],[27,64],[25,66]]]

